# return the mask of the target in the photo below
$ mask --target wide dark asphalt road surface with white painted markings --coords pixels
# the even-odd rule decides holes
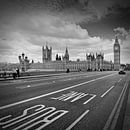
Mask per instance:
[[[102,130],[129,73],[75,72],[0,82],[0,129]]]

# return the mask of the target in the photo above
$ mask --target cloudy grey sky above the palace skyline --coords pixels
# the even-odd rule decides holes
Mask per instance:
[[[113,61],[115,35],[121,63],[130,63],[130,0],[0,0],[0,62],[25,53],[42,62],[42,46],[55,55],[68,47],[70,60],[103,52]]]

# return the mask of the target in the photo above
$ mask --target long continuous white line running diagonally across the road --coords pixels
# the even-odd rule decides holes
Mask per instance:
[[[79,83],[79,84],[76,84],[76,85],[73,85],[73,86],[70,86],[70,87],[67,87],[67,88],[59,89],[59,90],[56,90],[56,91],[53,91],[53,92],[50,92],[50,93],[47,93],[47,94],[43,94],[43,95],[40,95],[40,96],[37,96],[37,97],[33,97],[33,98],[29,98],[29,99],[22,100],[22,101],[19,101],[19,102],[15,102],[15,103],[12,103],[12,104],[8,104],[8,105],[5,105],[5,106],[1,106],[0,110],[5,109],[5,108],[9,108],[9,107],[12,107],[12,106],[16,106],[16,105],[19,105],[19,104],[22,104],[22,103],[26,103],[26,102],[29,102],[29,101],[33,101],[33,100],[36,100],[36,99],[39,99],[39,98],[42,98],[42,97],[46,97],[46,96],[49,96],[49,95],[52,95],[52,94],[55,94],[55,93],[59,93],[59,92],[62,92],[62,91],[68,90],[68,89],[72,89],[72,88],[75,88],[75,87],[78,87],[78,86],[81,86],[81,85],[84,85],[84,84],[87,84],[87,83],[91,83],[91,82],[112,76],[112,75],[115,75],[115,73],[110,74],[110,75],[106,75],[106,76],[103,76],[103,77],[100,77],[100,78],[92,79],[92,80],[89,80],[87,82]]]

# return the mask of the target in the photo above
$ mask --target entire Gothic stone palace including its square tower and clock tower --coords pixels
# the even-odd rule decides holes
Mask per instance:
[[[52,61],[52,47],[42,47],[42,62],[34,63],[30,65],[31,69],[49,69],[49,70],[89,70],[89,71],[105,71],[105,70],[119,70],[120,69],[120,44],[118,38],[115,38],[113,46],[114,63],[112,61],[106,61],[102,52],[96,54],[86,54],[86,60],[71,61],[69,59],[69,51],[66,47],[64,56],[56,54],[56,58]]]

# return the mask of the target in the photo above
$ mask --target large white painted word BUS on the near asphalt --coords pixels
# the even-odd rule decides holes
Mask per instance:
[[[32,110],[33,113],[31,112]],[[13,130],[27,130],[33,129],[38,125],[36,129],[41,130],[68,112],[69,111],[57,110],[55,107],[46,107],[45,105],[39,104],[23,110],[20,116],[13,117],[13,115],[7,115],[0,118],[0,126],[3,129],[13,127]]]

